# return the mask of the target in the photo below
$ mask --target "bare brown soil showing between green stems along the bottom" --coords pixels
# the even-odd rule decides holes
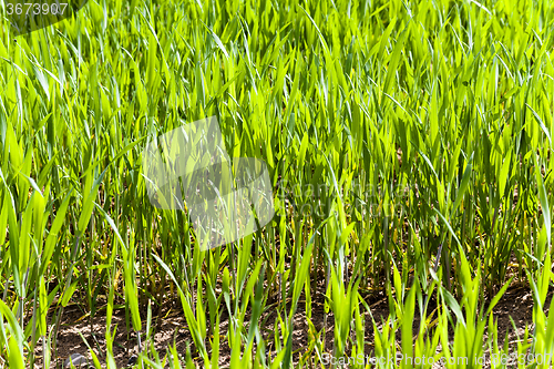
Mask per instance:
[[[307,315],[306,315],[306,303],[304,297],[300,297],[298,303],[297,312],[295,315],[295,329],[293,331],[293,360],[298,363],[302,353],[308,349],[308,339],[310,335],[322,335],[325,341],[324,350],[325,352],[332,352],[334,344],[334,316],[329,311],[327,315],[327,321],[324,327],[325,321],[325,310],[324,310],[324,291],[325,286],[317,286],[316,294],[312,297],[312,311],[311,311],[311,324],[314,325],[316,331],[310,332]],[[554,289],[548,290],[545,307],[550,307],[552,296],[554,295]],[[377,293],[375,295],[369,295],[366,299],[368,306],[370,306],[371,314],[365,314],[365,325],[366,325],[366,355],[373,353],[373,326],[372,319],[376,321],[378,329],[381,329],[382,321],[384,321],[389,314],[388,297],[384,294]],[[277,300],[268,300],[268,306],[277,306]],[[430,308],[433,308],[434,301],[430,300]],[[290,304],[288,304],[290,306]],[[288,308],[289,308],[288,306]],[[545,309],[547,311],[547,309]],[[431,310],[428,310],[431,311]],[[522,339],[525,331],[525,327],[530,331],[533,329],[533,297],[527,286],[522,284],[513,284],[504,294],[502,299],[493,309],[493,316],[497,320],[497,332],[499,341],[502,344],[504,337],[507,335],[507,340],[511,345],[515,345],[519,339]],[[146,311],[144,314],[143,324],[146,321]],[[268,360],[275,357],[277,348],[273,346],[274,339],[271,337],[278,329],[279,316],[285,319],[285,311],[277,311],[275,309],[269,309],[261,315],[259,321],[261,321],[261,336],[268,339],[270,342],[266,348],[266,357]],[[50,317],[52,319],[52,317]],[[512,324],[512,320],[513,324]],[[245,321],[249,321],[249,317],[245,318]],[[276,324],[277,321],[277,324]],[[208,322],[209,324],[209,322]],[[92,328],[91,328],[92,325]],[[83,315],[81,308],[76,305],[69,306],[63,312],[63,317],[60,325],[60,330],[58,334],[58,352],[55,357],[52,358],[51,367],[61,368],[66,358],[72,353],[81,353],[89,359],[91,358],[89,347],[95,352],[102,367],[105,367],[105,327],[106,318],[105,310],[101,310],[95,317],[90,319],[86,315]],[[222,315],[220,318],[220,358],[219,367],[228,368],[230,360],[230,348],[226,345],[227,339],[225,335],[228,329],[228,316],[226,314]],[[246,325],[247,326],[247,325]],[[418,311],[416,311],[416,317],[413,321],[414,335],[419,327]],[[324,329],[326,328],[326,329]],[[127,331],[125,324],[125,311],[124,309],[115,310],[112,324],[112,332],[115,331],[113,353],[115,357],[115,363],[117,368],[127,367],[129,359],[132,355],[138,352],[137,336],[134,331]],[[93,334],[91,334],[91,331]],[[450,339],[453,338],[453,331],[450,331]],[[143,327],[141,334],[142,345],[146,342],[146,332]],[[186,355],[187,348],[192,352],[193,359],[196,357],[193,339],[187,330],[186,320],[181,309],[178,301],[172,301],[166,304],[162,309],[155,311],[152,317],[151,327],[151,340],[148,345],[153,345],[157,350],[161,360],[166,352],[167,348],[172,345],[176,346],[177,352],[184,357]],[[281,341],[284,339],[281,338]],[[397,336],[397,341],[400,345],[400,336]],[[39,344],[39,348],[35,350],[37,355],[37,368],[42,368],[42,345]],[[88,347],[89,346],[89,347]],[[209,348],[208,348],[209,349]],[[312,355],[315,351],[312,351]],[[196,357],[195,360],[199,367],[202,363]],[[440,368],[440,366],[435,366]],[[490,367],[489,365],[484,366]]]

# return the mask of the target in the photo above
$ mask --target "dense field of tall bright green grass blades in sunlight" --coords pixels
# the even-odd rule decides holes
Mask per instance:
[[[94,368],[117,331],[137,368],[550,367],[526,358],[554,351],[551,1],[89,0],[22,35],[0,9],[0,367],[63,363],[69,307],[105,317]],[[275,216],[202,250],[142,152],[208,116],[266,162]],[[154,345],[168,306],[186,350]]]

